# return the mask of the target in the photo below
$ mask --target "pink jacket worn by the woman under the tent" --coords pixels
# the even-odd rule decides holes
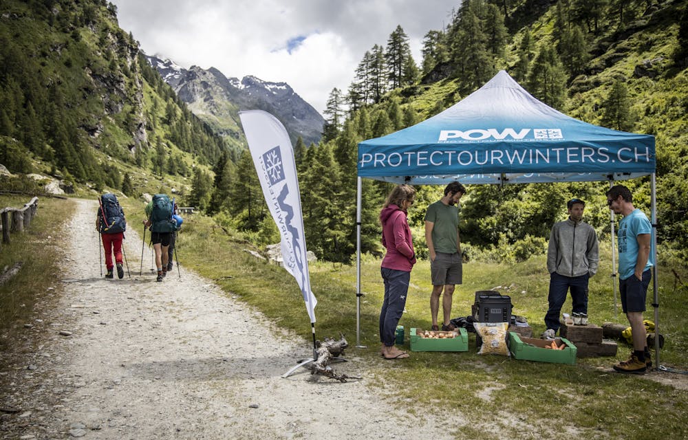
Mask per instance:
[[[380,212],[380,223],[383,225],[383,246],[387,249],[382,267],[411,272],[416,264],[416,253],[406,212],[389,205]]]

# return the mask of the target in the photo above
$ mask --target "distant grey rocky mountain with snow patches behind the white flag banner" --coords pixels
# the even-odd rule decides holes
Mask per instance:
[[[282,122],[292,143],[299,136],[307,146],[320,140],[325,120],[287,83],[270,83],[255,76],[227,78],[215,67],[184,69],[169,59],[147,58],[189,109],[221,135],[243,139],[239,110],[260,109]]]

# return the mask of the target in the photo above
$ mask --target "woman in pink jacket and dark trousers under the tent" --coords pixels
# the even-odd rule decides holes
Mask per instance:
[[[380,212],[383,246],[387,250],[380,268],[385,282],[385,300],[380,311],[380,342],[383,343],[385,359],[409,357],[409,353],[394,346],[394,333],[406,305],[411,268],[416,263],[411,228],[406,219],[406,212],[413,205],[415,196],[416,190],[412,186],[398,185],[389,193]]]

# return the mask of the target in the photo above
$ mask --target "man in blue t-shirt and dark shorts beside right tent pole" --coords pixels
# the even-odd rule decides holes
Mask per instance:
[[[647,216],[633,206],[633,196],[623,185],[607,191],[607,204],[614,214],[622,214],[619,222],[619,292],[621,307],[631,325],[633,353],[631,358],[614,365],[619,373],[645,373],[652,366],[643,311],[654,265],[650,256],[652,224]]]

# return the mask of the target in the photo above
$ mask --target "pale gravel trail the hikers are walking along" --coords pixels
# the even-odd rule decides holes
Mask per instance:
[[[98,205],[76,203],[65,228],[64,294],[39,309],[18,342],[34,346],[3,360],[3,439],[449,439],[465,423],[458,412],[407,415],[407,405],[369,386],[377,380],[370,360],[356,362],[352,349],[352,362],[335,368],[361,381],[314,380],[305,369],[282,378],[310,355],[309,342],[184,267],[181,279],[174,267],[156,283],[148,247],[139,276],[136,225],[125,239],[131,278],[125,267],[125,278],[105,280]]]

